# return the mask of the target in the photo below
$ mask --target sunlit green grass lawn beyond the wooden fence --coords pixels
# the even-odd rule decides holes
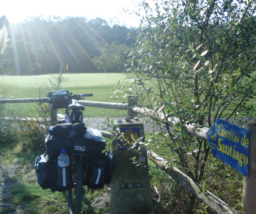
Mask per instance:
[[[58,76],[58,74],[54,75]],[[123,102],[111,98],[117,86],[118,81],[124,84],[125,81],[131,81],[128,73],[67,73],[63,74],[67,78],[61,88],[68,91],[81,94],[93,93],[92,97],[87,100],[99,102]],[[0,75],[0,98],[1,99],[21,99],[21,98],[37,98],[40,86],[43,84],[51,86],[49,80],[54,80],[52,75],[33,75],[33,76],[6,76]],[[31,110],[35,110],[36,103],[10,103],[4,104],[4,107],[11,109],[19,114],[31,114]],[[31,109],[31,110],[30,110]],[[126,111],[117,111],[113,109],[99,109],[86,107],[84,116],[111,117],[125,116]]]

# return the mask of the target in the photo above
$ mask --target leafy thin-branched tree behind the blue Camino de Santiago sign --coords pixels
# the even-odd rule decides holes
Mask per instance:
[[[255,1],[154,1],[152,8],[143,0],[140,6],[145,15],[125,92],[141,107],[163,112],[163,140],[156,132],[150,140],[169,148],[179,169],[198,184],[207,183],[205,177],[218,183],[209,144],[189,135],[188,127],[255,116]],[[192,213],[196,200],[189,196]]]

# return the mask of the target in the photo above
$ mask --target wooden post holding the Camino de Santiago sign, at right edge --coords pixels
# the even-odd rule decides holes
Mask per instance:
[[[248,121],[250,130],[249,177],[244,177],[244,213],[256,213],[256,120]]]

